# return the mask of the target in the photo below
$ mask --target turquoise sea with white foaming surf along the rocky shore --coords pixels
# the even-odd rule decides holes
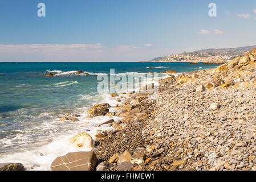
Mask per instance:
[[[87,110],[94,104],[108,102],[112,106],[109,111],[115,111],[113,106],[119,104],[109,90],[97,91],[100,78],[110,76],[111,69],[115,69],[115,76],[128,76],[167,70],[180,74],[217,66],[164,62],[0,63],[0,163],[17,162],[27,170],[50,170],[56,157],[82,150],[69,138],[81,132],[95,138],[97,131],[111,129],[96,126],[121,118],[87,118]],[[47,77],[48,73],[55,75]],[[168,75],[159,74],[159,78],[165,77]],[[66,113],[80,114],[79,121],[60,122]]]

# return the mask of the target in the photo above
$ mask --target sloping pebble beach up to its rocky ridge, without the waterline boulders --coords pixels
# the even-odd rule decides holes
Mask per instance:
[[[156,100],[133,94],[131,100],[139,98],[138,113],[146,117],[140,122],[133,115],[123,118],[128,126],[100,140],[97,156],[109,162],[113,155],[142,147],[144,163],[131,170],[256,170],[255,59],[245,55],[160,80]],[[113,163],[112,170],[118,166]]]

